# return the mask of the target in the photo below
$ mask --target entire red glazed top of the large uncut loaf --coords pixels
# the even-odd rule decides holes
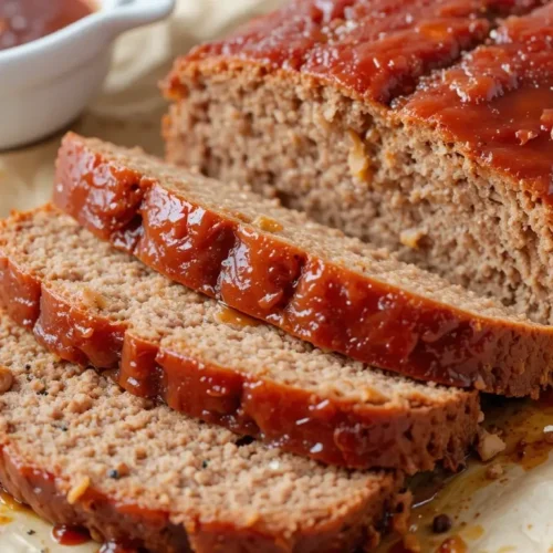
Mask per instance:
[[[553,6],[543,3],[292,1],[177,60],[165,91],[186,97],[188,77],[221,70],[313,79],[392,107],[380,113],[393,124],[427,129],[429,142],[442,139],[513,188],[524,182],[530,200],[550,204]],[[470,52],[456,64],[463,49]],[[440,66],[450,69],[432,72]]]

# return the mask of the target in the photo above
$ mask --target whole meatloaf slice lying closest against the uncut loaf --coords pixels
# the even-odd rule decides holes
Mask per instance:
[[[170,279],[316,346],[512,396],[551,380],[552,327],[238,185],[70,134],[54,201]]]

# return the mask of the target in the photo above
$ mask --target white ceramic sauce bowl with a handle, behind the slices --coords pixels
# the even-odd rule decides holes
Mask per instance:
[[[167,17],[176,0],[96,0],[100,10],[40,40],[0,51],[0,149],[69,125],[101,88],[113,41]]]

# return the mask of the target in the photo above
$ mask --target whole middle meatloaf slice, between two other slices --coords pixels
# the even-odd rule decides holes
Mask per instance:
[[[281,449],[415,472],[463,462],[478,395],[323,353],[175,284],[52,208],[0,230],[0,303],[62,358]]]

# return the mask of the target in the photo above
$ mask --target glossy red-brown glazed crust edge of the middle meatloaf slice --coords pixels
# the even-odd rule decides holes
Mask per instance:
[[[413,473],[444,460],[455,469],[477,432],[476,393],[403,406],[320,397],[206,362],[194,345],[176,353],[142,340],[126,323],[73,305],[2,251],[0,304],[60,357],[118,368],[117,382],[136,396],[326,463]]]

